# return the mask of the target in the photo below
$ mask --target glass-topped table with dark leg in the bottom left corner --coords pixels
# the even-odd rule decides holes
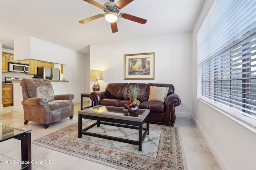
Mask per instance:
[[[21,141],[21,160],[1,160],[1,164],[21,164],[22,170],[31,170],[31,129],[18,127],[7,123],[0,123],[0,142],[8,139]]]

